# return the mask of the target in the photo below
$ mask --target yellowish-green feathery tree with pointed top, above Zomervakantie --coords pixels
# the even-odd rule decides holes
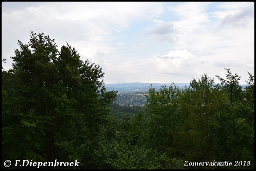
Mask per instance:
[[[210,161],[216,159],[212,130],[216,117],[226,108],[226,96],[214,86],[214,79],[206,74],[183,90],[180,104],[183,124],[177,126],[175,145],[180,147],[182,156],[188,161]]]

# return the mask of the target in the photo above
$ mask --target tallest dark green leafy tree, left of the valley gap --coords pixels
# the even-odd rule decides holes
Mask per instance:
[[[2,123],[11,121],[2,125],[2,161],[78,159],[80,168],[93,168],[100,126],[116,100],[102,69],[68,44],[59,52],[44,33],[32,31],[28,44],[18,45],[12,69],[2,73]]]

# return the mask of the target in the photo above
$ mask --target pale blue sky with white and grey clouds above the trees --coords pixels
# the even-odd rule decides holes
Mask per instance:
[[[254,75],[254,2],[2,2],[6,71],[31,31],[74,47],[105,84]]]

